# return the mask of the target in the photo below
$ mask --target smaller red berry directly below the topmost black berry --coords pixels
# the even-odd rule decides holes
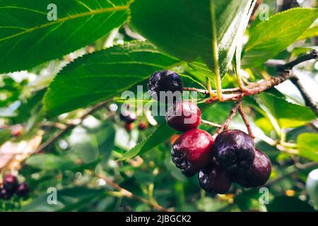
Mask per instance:
[[[173,129],[184,132],[199,126],[201,111],[192,102],[179,101],[167,109],[165,120]]]

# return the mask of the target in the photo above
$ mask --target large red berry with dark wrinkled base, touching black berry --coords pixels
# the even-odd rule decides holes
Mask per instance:
[[[172,162],[181,169],[182,174],[192,177],[211,161],[213,144],[212,136],[206,131],[189,130],[172,145]]]

